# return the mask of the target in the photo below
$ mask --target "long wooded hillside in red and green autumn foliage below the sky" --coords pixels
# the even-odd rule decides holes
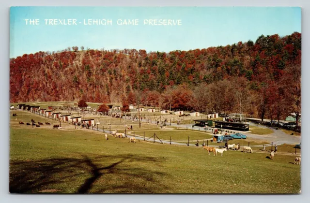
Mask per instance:
[[[81,47],[83,49],[83,47]],[[10,101],[128,102],[273,119],[300,113],[301,34],[189,51],[38,52],[10,60]]]

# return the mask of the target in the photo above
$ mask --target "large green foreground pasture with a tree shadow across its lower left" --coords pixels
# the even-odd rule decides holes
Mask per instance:
[[[300,191],[300,166],[292,164],[295,156],[276,154],[275,160],[270,160],[269,154],[227,151],[223,157],[214,157],[201,147],[129,143],[128,138],[112,136],[105,140],[102,132],[70,129],[72,125],[61,130],[31,128],[18,124],[20,115],[17,120],[10,117],[10,192]],[[27,113],[22,117],[38,118]],[[166,131],[161,132],[162,137],[167,136]],[[284,150],[284,146],[278,150]]]

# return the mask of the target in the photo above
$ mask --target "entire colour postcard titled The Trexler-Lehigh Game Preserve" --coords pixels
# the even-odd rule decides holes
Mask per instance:
[[[11,193],[301,192],[300,7],[11,7]]]

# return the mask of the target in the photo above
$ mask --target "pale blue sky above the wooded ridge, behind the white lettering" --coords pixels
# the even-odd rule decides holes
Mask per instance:
[[[25,19],[40,24],[26,25]],[[78,25],[50,26],[44,19],[77,19]],[[84,19],[111,19],[112,25],[83,25]],[[139,19],[139,25],[119,26],[118,19]],[[143,19],[181,19],[182,25],[143,25]],[[10,58],[82,45],[148,52],[202,49],[294,31],[301,32],[299,7],[11,7]]]

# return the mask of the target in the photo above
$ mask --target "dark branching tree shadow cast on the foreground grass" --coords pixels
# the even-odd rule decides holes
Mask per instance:
[[[159,163],[137,155],[13,161],[10,192],[164,193],[168,188],[158,180],[167,175],[156,171]]]

